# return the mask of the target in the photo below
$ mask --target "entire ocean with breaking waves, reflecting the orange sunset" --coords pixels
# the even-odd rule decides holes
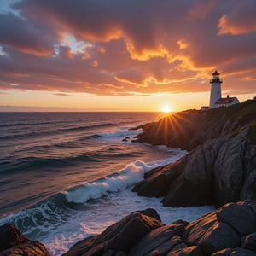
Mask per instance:
[[[186,154],[132,143],[160,113],[0,113],[0,225],[11,222],[51,255],[153,207],[162,221],[193,221],[214,209],[162,207],[132,185]],[[124,140],[125,139],[125,140]]]

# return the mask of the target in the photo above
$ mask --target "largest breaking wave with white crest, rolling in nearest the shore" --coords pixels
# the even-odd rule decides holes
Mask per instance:
[[[183,152],[179,155],[179,157],[181,156],[183,156]],[[125,191],[130,191],[128,188],[142,180],[145,172],[173,162],[177,158],[178,155],[150,163],[141,160],[131,162],[120,172],[67,189],[20,212],[2,218],[0,225],[11,222],[27,237],[48,241],[50,234],[58,233],[61,224],[67,224],[77,218],[78,211],[82,215],[86,214],[83,212],[90,211],[91,206],[95,206],[95,204],[91,205],[91,202],[95,202],[94,200],[119,195],[115,192],[126,193]],[[57,236],[57,234],[55,235]]]

